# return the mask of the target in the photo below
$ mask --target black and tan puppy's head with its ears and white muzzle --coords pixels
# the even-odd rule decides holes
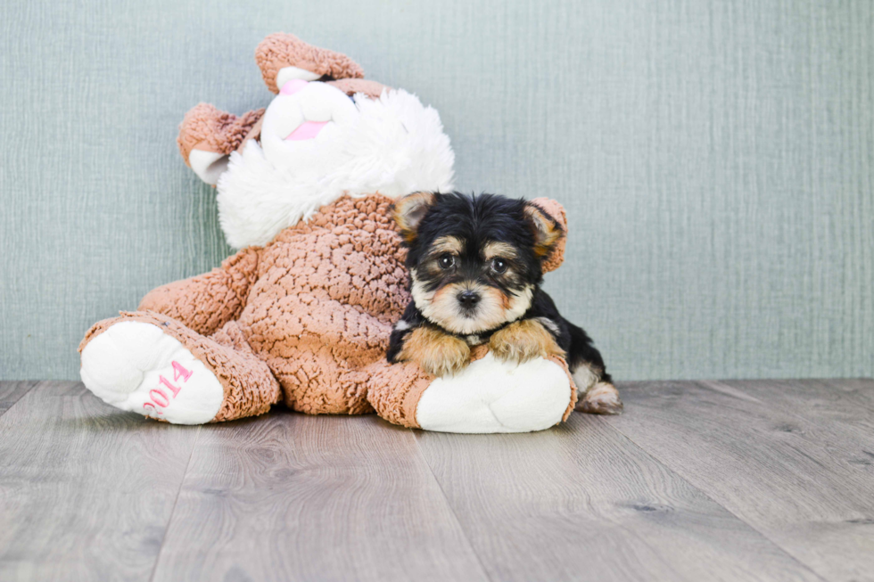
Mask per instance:
[[[416,193],[395,205],[416,307],[449,332],[476,334],[531,307],[541,261],[562,232],[530,202]]]

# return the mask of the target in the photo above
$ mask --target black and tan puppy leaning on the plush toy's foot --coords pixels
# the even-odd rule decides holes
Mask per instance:
[[[619,414],[622,400],[601,354],[540,289],[542,263],[565,233],[536,204],[494,194],[414,193],[394,206],[408,248],[412,301],[395,324],[389,362],[457,373],[488,343],[517,363],[565,357],[578,410]]]

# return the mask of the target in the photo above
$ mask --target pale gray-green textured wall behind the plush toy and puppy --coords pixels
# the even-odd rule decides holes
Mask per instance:
[[[874,4],[30,2],[0,7],[0,379],[230,250],[179,157],[269,102],[294,32],[439,111],[458,187],[550,195],[548,277],[619,380],[874,374]]]

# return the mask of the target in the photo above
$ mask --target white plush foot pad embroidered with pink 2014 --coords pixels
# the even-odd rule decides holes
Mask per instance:
[[[210,422],[225,393],[182,343],[144,322],[120,322],[90,340],[80,374],[107,404],[175,424]]]

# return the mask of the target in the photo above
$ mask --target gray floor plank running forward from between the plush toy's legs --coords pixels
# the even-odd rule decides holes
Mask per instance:
[[[411,439],[375,415],[282,408],[204,426],[153,582],[488,581]]]

